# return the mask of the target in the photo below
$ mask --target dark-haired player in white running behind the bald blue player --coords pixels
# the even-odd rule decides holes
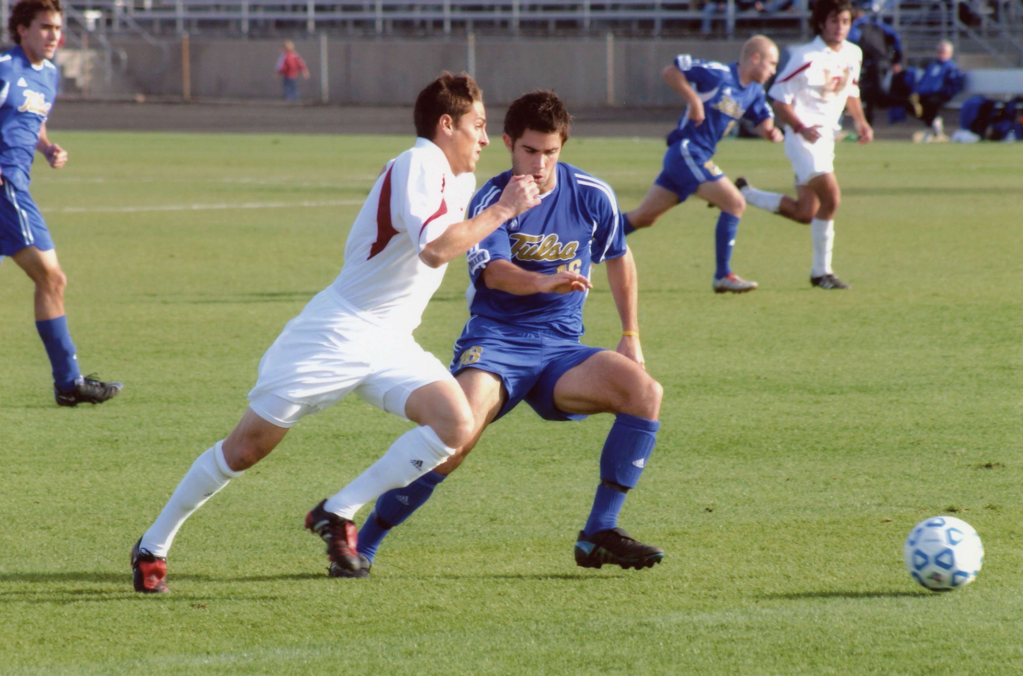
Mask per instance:
[[[860,143],[874,139],[859,101],[859,70],[863,54],[846,41],[852,24],[849,0],[818,0],[810,18],[817,37],[792,48],[788,64],[768,95],[774,114],[785,123],[785,153],[796,172],[796,199],[758,190],[744,178],[736,185],[746,201],[800,223],[813,235],[810,283],[820,288],[849,288],[832,270],[835,212],[841,191],[835,178],[835,132],[848,109]]]

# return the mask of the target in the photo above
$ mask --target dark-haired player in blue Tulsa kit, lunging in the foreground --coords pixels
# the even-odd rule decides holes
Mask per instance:
[[[596,497],[575,545],[576,562],[639,570],[664,556],[660,547],[618,528],[625,494],[654,450],[663,392],[642,367],[636,269],[615,193],[604,181],[558,162],[571,120],[552,92],[525,94],[508,108],[504,145],[511,170],[490,179],[470,211],[491,208],[517,176],[532,176],[541,204],[468,254],[472,316],[455,343],[451,372],[473,410],[472,438],[435,470],[380,497],[359,532],[365,575],[388,532],[461,464],[488,424],[523,400],[546,420],[616,414],[601,455]],[[579,343],[590,266],[602,262],[622,321],[617,352]]]

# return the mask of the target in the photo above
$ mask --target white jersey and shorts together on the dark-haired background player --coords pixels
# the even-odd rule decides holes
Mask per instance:
[[[806,127],[817,127],[820,138],[810,143],[785,128],[785,154],[796,172],[796,185],[835,171],[835,132],[842,128],[846,100],[859,97],[863,52],[849,41],[837,50],[817,36],[789,50],[789,61],[767,93],[792,105]]]

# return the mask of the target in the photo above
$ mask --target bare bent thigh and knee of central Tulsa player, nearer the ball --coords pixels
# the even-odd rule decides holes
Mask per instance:
[[[657,419],[661,386],[628,357],[604,350],[566,371],[554,386],[554,405],[566,413],[628,413]]]

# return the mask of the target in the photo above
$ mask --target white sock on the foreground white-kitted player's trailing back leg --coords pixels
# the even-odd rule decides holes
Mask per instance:
[[[227,486],[227,482],[241,476],[241,471],[234,471],[227,466],[223,445],[224,442],[219,441],[195,458],[188,474],[174,489],[160,516],[142,536],[142,543],[139,545],[141,549],[148,549],[149,553],[157,556],[166,556],[174,542],[174,536],[185,520],[217,491]]]

